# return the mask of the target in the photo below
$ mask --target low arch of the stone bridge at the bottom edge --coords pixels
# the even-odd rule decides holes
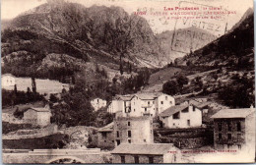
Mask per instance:
[[[54,157],[54,158],[45,162],[45,164],[59,164],[59,163],[63,163],[63,164],[80,163],[80,164],[84,164],[86,162],[84,160],[78,158],[78,157],[75,157],[75,156],[58,156],[58,157]]]

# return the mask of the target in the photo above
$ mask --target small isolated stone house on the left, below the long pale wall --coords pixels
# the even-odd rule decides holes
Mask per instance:
[[[51,111],[49,107],[30,108],[24,112],[23,120],[35,126],[44,127],[50,124]]]

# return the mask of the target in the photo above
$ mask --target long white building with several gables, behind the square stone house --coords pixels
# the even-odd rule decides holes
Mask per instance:
[[[118,96],[108,107],[109,113],[121,111],[124,117],[153,116],[174,106],[175,99],[164,93],[137,93]]]

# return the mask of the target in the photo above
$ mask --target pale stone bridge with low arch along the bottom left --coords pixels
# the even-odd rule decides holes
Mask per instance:
[[[103,163],[99,148],[87,149],[4,149],[3,163]]]

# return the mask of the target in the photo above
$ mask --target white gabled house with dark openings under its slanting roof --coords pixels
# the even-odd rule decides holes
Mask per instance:
[[[202,111],[196,106],[176,105],[160,113],[164,128],[193,128],[202,126]]]

